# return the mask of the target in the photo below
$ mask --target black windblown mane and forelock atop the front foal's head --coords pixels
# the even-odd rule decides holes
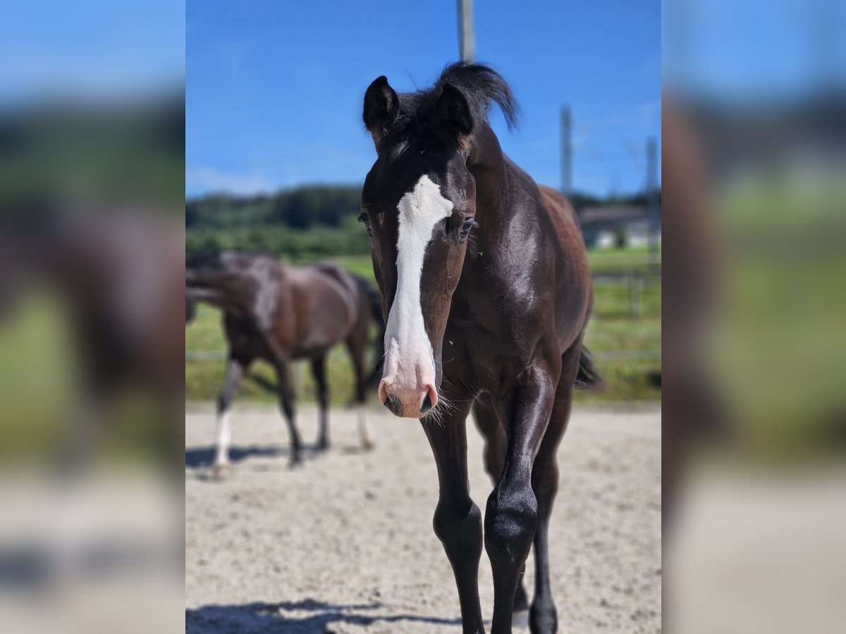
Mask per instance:
[[[475,121],[487,121],[491,103],[496,102],[503,111],[508,129],[517,126],[520,107],[508,82],[493,68],[484,63],[456,62],[443,69],[441,76],[428,90],[398,94],[400,118],[426,118],[434,111],[443,85],[450,84],[461,90]]]

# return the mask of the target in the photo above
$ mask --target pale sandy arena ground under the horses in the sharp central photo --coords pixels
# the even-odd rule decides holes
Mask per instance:
[[[382,413],[384,412],[384,413]],[[185,444],[185,626],[211,632],[461,631],[458,595],[431,528],[435,463],[420,425],[368,413],[360,451],[352,410],[333,410],[332,448],[315,455],[317,413],[301,407],[305,466],[288,469],[273,408],[233,411],[233,468],[210,478],[211,407],[189,407]],[[552,590],[560,631],[661,631],[661,413],[581,411],[559,450]],[[470,485],[492,484],[470,425]],[[482,613],[491,567],[479,571]],[[534,561],[526,566],[534,587]]]

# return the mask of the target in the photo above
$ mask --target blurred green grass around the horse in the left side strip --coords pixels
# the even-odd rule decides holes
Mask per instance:
[[[26,293],[0,315],[0,351],[0,465],[58,460],[90,412],[63,304],[43,290]],[[127,389],[102,410],[108,423],[96,435],[96,460],[137,467],[160,451],[163,414],[145,396]]]

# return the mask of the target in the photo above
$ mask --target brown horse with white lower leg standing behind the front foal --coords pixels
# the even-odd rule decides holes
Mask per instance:
[[[371,447],[364,421],[365,352],[371,325],[382,327],[382,307],[366,282],[332,264],[285,265],[271,255],[248,253],[200,254],[185,265],[186,321],[194,303],[211,303],[223,310],[229,343],[228,368],[217,399],[217,456],[215,471],[228,463],[232,440],[228,409],[239,381],[254,359],[271,363],[291,439],[291,463],[300,462],[300,441],[294,424],[294,394],[288,362],[308,358],[320,402],[318,449],[329,446],[326,355],[345,342],[355,373],[359,403],[359,435]],[[382,358],[381,345],[376,359]],[[371,376],[378,376],[375,372]]]

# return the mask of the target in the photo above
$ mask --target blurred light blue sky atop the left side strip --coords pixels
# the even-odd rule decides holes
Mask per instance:
[[[179,88],[181,0],[28,0],[0,19],[0,105],[44,96],[125,98]]]

